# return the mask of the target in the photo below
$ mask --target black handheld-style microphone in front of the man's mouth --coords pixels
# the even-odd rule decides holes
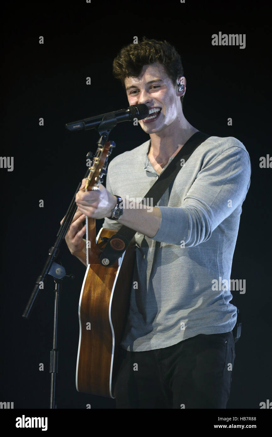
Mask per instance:
[[[130,121],[134,118],[137,120],[142,120],[143,118],[148,117],[149,109],[145,104],[139,105],[131,105],[127,109],[120,109],[119,111],[106,112],[106,114],[95,115],[90,118],[83,118],[83,120],[72,121],[72,123],[66,123],[65,128],[69,129],[69,131],[79,131],[81,129],[95,129],[97,128],[103,117],[107,115],[107,120],[117,120],[117,123],[121,121]]]

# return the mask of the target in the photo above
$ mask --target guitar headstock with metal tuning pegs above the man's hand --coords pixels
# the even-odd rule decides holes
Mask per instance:
[[[86,176],[85,190],[98,190],[103,182],[103,176],[107,174],[108,157],[115,147],[114,141],[107,141],[105,146],[98,146],[93,156],[88,174]]]

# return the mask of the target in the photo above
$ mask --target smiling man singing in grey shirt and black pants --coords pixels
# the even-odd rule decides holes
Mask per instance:
[[[137,231],[131,301],[115,380],[117,408],[226,408],[234,364],[231,264],[250,184],[248,152],[236,138],[210,136],[192,153],[153,208],[120,208],[143,198],[186,141],[198,132],[183,115],[186,79],[176,49],[143,38],[113,63],[149,139],[108,167],[106,187],[76,195],[65,237],[86,265],[85,216],[103,227]],[[128,139],[129,141],[129,139]],[[124,205],[124,202],[123,202]],[[137,366],[135,365],[137,364]]]

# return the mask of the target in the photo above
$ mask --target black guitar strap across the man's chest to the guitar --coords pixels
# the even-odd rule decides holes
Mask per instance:
[[[167,166],[158,177],[148,193],[145,194],[145,197],[140,204],[143,203],[144,199],[152,198],[153,205],[157,205],[158,201],[165,193],[172,180],[175,179],[182,166],[186,163],[196,148],[209,137],[210,135],[204,134],[200,131],[194,133],[179,150],[179,153],[174,156],[169,166]],[[103,241],[107,241],[107,244],[100,255],[100,263],[103,266],[114,264],[114,262],[121,257],[122,253],[127,249],[136,232],[137,231],[123,225],[110,239],[104,237]]]

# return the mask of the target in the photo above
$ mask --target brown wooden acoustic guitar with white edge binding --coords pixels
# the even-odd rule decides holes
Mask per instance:
[[[114,143],[98,146],[86,177],[85,190],[97,190],[107,173]],[[94,218],[86,217],[86,274],[79,298],[79,348],[76,389],[114,398],[118,349],[124,333],[133,279],[135,244],[110,265],[100,263],[107,239],[117,231],[101,228],[96,237]]]

